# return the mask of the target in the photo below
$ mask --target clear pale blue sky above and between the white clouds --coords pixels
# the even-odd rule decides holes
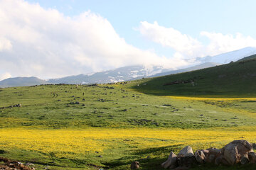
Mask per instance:
[[[29,1],[39,3],[43,8],[56,8],[65,16],[79,15],[88,10],[99,13],[100,16],[110,21],[122,38],[143,49],[160,48],[161,45],[144,40],[139,32],[133,29],[139,26],[140,21],[149,23],[157,21],[160,26],[175,28],[194,38],[200,38],[199,33],[203,30],[223,34],[242,33],[242,35],[256,38],[256,24],[254,23],[256,1],[254,0]],[[169,52],[165,48],[161,50]],[[159,49],[159,52],[161,50]]]

